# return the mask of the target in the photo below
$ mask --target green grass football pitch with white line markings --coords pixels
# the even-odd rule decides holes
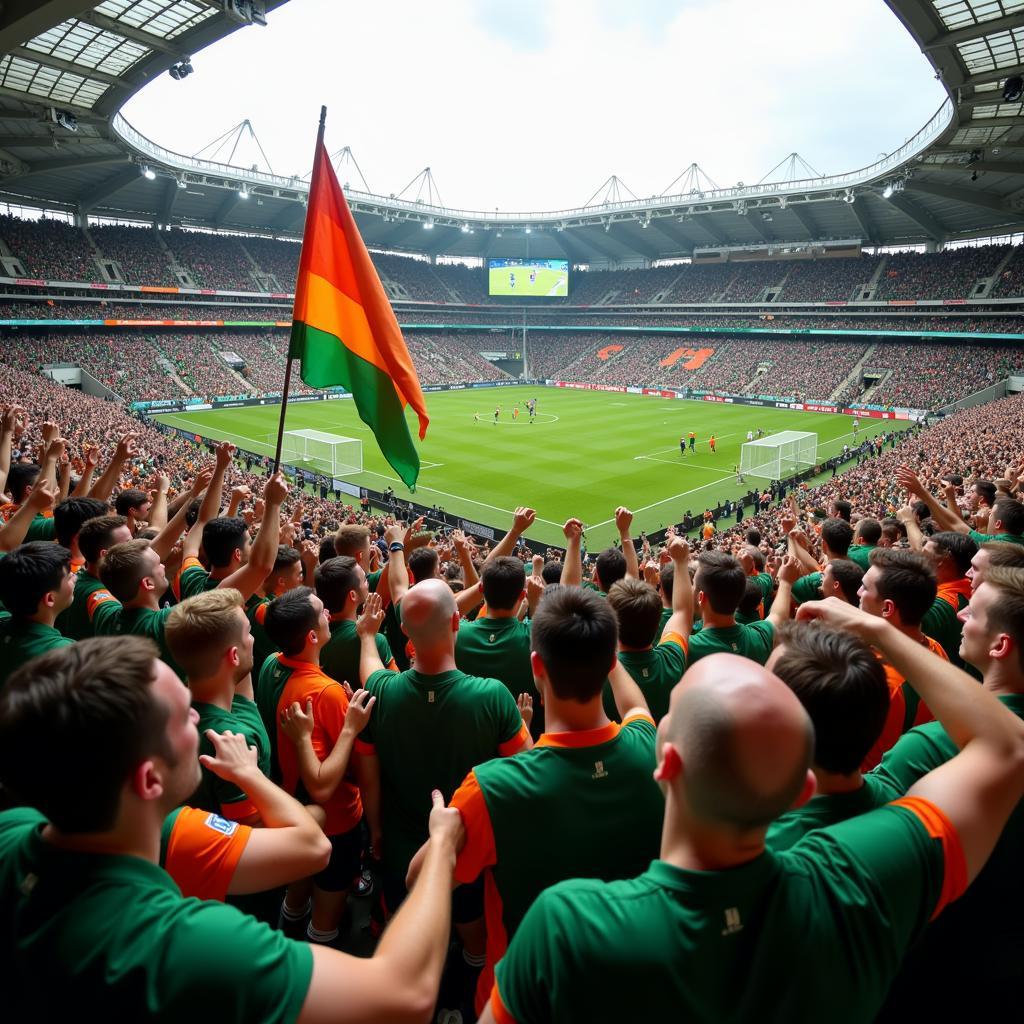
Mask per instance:
[[[578,516],[587,524],[591,550],[617,536],[612,516],[618,505],[636,513],[635,531],[655,530],[678,522],[687,509],[700,513],[745,493],[758,481],[748,477],[745,485],[737,484],[733,467],[748,430],[817,433],[819,460],[852,441],[848,416],[762,407],[528,386],[434,392],[426,398],[430,429],[418,442],[422,469],[415,495],[384,461],[350,400],[289,406],[287,429],[357,437],[364,471],[347,477],[352,483],[375,490],[391,485],[399,497],[440,505],[475,522],[504,528],[517,505],[530,506],[538,520],[528,536],[543,543],[560,544],[561,524]],[[526,414],[527,398],[538,399],[535,423]],[[516,402],[519,417],[513,420]],[[501,416],[495,423],[497,407]],[[272,454],[280,415],[279,406],[257,406],[157,419]],[[415,436],[412,416],[410,424]],[[865,419],[860,436],[905,426]],[[683,457],[679,437],[690,430],[697,435],[696,454]],[[708,445],[713,433],[714,455]]]

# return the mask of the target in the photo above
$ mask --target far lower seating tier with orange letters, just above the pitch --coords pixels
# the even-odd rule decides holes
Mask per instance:
[[[125,401],[275,394],[287,338],[281,330],[20,330],[5,337],[0,361],[26,371],[80,367]],[[424,386],[511,381],[514,374],[928,410],[1024,370],[1024,343],[1011,339],[926,343],[553,331],[530,333],[523,351],[521,339],[486,332],[407,331],[406,338]]]

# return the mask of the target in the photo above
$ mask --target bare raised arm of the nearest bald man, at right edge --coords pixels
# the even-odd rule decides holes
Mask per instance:
[[[1024,796],[1024,722],[966,672],[931,653],[885,620],[839,598],[800,606],[878,647],[908,679],[961,753],[915,782],[908,797],[935,804],[952,823],[974,880]]]

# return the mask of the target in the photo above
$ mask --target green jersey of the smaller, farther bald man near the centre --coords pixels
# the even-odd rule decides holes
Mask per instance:
[[[403,879],[427,839],[431,791],[451,800],[475,765],[518,753],[529,733],[497,679],[411,669],[375,672],[366,688],[377,700],[355,749],[379,760],[384,866]]]

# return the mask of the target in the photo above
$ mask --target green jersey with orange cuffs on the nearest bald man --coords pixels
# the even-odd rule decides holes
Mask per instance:
[[[956,831],[920,799],[727,871],[655,860],[626,882],[564,882],[523,920],[490,1009],[499,1024],[862,1024],[929,921],[966,888]]]

